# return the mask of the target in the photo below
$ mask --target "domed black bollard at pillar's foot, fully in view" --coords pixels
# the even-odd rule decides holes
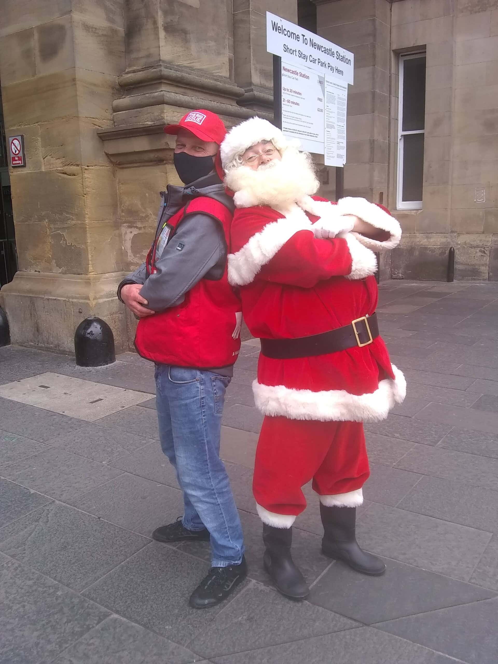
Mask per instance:
[[[78,367],[104,367],[116,362],[112,329],[101,318],[90,316],[74,333],[74,353]]]

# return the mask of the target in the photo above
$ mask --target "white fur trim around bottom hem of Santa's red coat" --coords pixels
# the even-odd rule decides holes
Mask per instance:
[[[270,417],[320,422],[380,422],[406,396],[404,375],[392,365],[394,380],[381,380],[375,392],[349,394],[346,390],[295,390],[285,385],[252,383],[256,408]]]

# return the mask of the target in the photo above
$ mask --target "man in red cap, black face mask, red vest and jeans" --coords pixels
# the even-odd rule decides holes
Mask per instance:
[[[220,450],[225,390],[240,350],[240,300],[228,284],[233,203],[215,160],[226,129],[207,110],[187,113],[173,163],[185,187],[167,186],[147,260],[119,286],[139,318],[135,347],[155,362],[161,448],[177,471],[184,513],[159,542],[210,540],[211,569],[190,598],[214,606],[247,573],[242,527]]]

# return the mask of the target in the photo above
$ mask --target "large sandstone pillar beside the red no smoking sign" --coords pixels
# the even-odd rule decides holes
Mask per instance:
[[[27,153],[11,171],[19,272],[1,290],[12,341],[72,351],[96,314],[121,349],[116,170],[96,131],[112,125],[124,69],[122,1],[4,0],[0,58],[7,133]]]

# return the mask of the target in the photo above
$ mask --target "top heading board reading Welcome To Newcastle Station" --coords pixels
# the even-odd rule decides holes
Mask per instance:
[[[289,64],[309,67],[353,84],[353,53],[269,11],[266,12],[266,50]]]

